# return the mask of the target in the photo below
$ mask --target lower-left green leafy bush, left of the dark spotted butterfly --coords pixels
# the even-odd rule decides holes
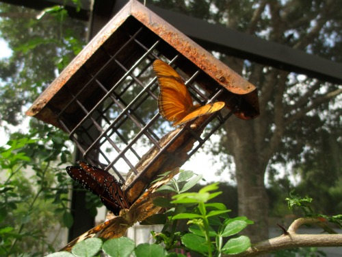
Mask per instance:
[[[70,215],[66,208],[70,180],[54,167],[60,160],[57,156],[70,156],[70,152],[51,128],[43,134],[12,134],[7,145],[0,147],[1,256],[52,250],[45,234],[61,217],[59,210]]]

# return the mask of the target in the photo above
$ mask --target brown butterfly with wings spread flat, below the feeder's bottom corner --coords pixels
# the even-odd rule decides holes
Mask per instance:
[[[160,194],[155,191],[159,187],[168,183],[177,173],[179,173],[179,168],[173,169],[170,173],[161,178],[161,180],[150,186],[150,188],[148,188],[148,190],[142,194],[134,204],[132,204],[131,208],[120,210],[120,216],[114,217],[114,219],[110,219],[109,221],[105,221],[100,225],[96,225],[95,228],[92,228],[81,236],[75,238],[73,241],[68,243],[68,245],[60,249],[60,251],[70,252],[71,248],[76,243],[86,240],[87,238],[92,238],[96,235],[107,240],[121,237],[126,233],[127,229],[137,221],[144,221],[144,219],[151,215],[160,212],[163,208],[153,204],[153,200],[160,197]]]

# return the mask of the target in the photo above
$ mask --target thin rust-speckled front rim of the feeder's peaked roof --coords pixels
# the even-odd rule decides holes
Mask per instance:
[[[214,58],[211,53],[196,44],[193,40],[185,36],[178,29],[161,19],[157,14],[150,11],[138,1],[131,0],[124,5],[124,8],[101,29],[100,32],[88,43],[88,45],[66,66],[64,71],[44,90],[42,95],[34,101],[32,106],[25,112],[27,116],[36,116],[47,105],[51,98],[68,82],[83,64],[101,47],[103,42],[113,34],[118,27],[129,16],[143,23],[146,27],[158,34],[163,40],[168,42],[186,58],[194,62],[196,66],[213,77],[219,84],[227,90],[237,95],[246,95],[253,91],[257,94],[256,87],[246,79],[241,77],[226,64]],[[253,93],[254,93],[253,92]],[[253,94],[254,95],[254,94]],[[257,97],[257,96],[255,96]],[[259,108],[258,108],[259,109]]]

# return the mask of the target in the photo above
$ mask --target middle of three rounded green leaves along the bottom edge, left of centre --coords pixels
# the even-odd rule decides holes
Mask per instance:
[[[128,257],[135,248],[135,243],[131,238],[120,237],[106,241],[103,244],[103,252],[111,257]]]

